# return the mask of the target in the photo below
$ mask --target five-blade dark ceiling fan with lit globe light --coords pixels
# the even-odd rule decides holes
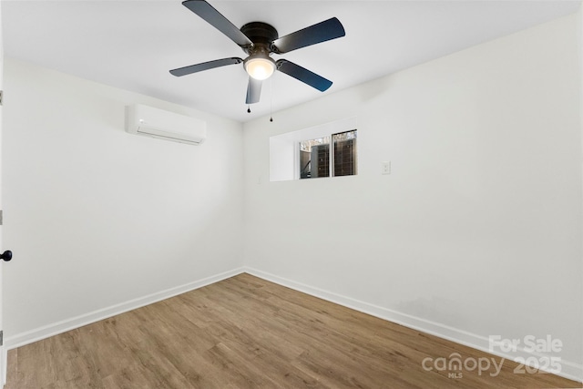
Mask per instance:
[[[344,36],[344,27],[337,18],[332,17],[287,36],[279,37],[277,30],[267,23],[251,22],[239,29],[205,0],[187,0],[182,2],[182,5],[228,36],[248,56],[245,59],[233,56],[189,67],[179,67],[170,70],[170,74],[173,76],[181,77],[215,67],[242,63],[249,74],[245,104],[259,102],[262,81],[271,77],[275,70],[294,77],[322,92],[332,86],[332,81],[286,59],[275,61],[271,58],[271,54],[289,53],[298,48]]]

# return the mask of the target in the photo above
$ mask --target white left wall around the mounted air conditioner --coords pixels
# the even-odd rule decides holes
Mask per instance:
[[[208,139],[197,147],[128,134],[131,103],[207,120]],[[6,60],[5,247],[15,253],[3,285],[7,343],[240,268],[241,129]]]

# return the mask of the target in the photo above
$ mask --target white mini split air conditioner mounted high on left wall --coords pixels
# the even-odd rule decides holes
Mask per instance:
[[[134,104],[126,107],[126,131],[130,134],[199,145],[207,137],[207,122]]]

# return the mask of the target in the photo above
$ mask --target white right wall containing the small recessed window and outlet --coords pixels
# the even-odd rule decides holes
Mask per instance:
[[[247,123],[246,265],[482,348],[489,335],[551,334],[563,370],[582,379],[578,23]],[[269,137],[349,116],[358,176],[269,182]]]

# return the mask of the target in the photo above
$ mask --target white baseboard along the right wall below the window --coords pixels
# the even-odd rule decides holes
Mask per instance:
[[[438,322],[427,321],[419,317],[402,312],[396,312],[388,308],[370,304],[368,302],[361,302],[337,293],[324,291],[320,288],[314,288],[310,285],[303,284],[302,282],[294,282],[292,280],[288,280],[265,271],[259,271],[250,267],[243,267],[243,271],[263,280],[291,288],[295,291],[304,292],[314,297],[321,298],[322,300],[334,302],[347,308],[351,308],[355,311],[367,313],[389,322],[395,322],[422,333],[429,333],[448,341],[464,344],[465,346],[472,347],[486,353],[491,353],[507,360],[514,361],[517,357],[523,358],[524,361],[527,361],[528,357],[535,357],[538,360],[538,358],[541,356],[536,353],[527,352],[524,348],[518,348],[517,352],[512,354],[500,353],[497,352],[497,350],[493,352],[490,350],[490,340],[486,336],[477,335],[476,333],[467,333],[465,331]],[[569,380],[583,382],[583,365],[572,363],[566,360],[561,360],[560,365],[560,372],[550,373],[560,375],[562,377],[568,378]]]

